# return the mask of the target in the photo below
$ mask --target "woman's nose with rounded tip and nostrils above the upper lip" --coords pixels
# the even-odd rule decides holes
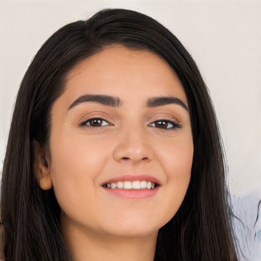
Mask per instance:
[[[129,129],[118,137],[113,157],[117,162],[150,162],[154,157],[154,150],[147,134],[137,129]]]

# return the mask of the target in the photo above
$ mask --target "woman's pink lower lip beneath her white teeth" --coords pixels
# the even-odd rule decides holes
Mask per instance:
[[[125,198],[147,198],[155,195],[160,186],[155,187],[154,189],[140,189],[140,190],[127,190],[127,189],[109,189],[102,187],[106,192]]]

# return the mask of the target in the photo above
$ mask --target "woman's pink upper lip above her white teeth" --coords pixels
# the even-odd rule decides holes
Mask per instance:
[[[148,174],[124,174],[112,177],[108,179],[107,181],[103,182],[102,185],[105,185],[107,183],[117,183],[118,181],[136,181],[136,180],[145,180],[145,181],[151,181],[157,185],[161,185],[161,182],[158,178],[148,175]]]

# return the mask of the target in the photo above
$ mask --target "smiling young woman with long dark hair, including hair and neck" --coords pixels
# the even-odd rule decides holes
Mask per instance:
[[[177,38],[135,11],[65,25],[21,83],[6,260],[237,260],[215,112]]]

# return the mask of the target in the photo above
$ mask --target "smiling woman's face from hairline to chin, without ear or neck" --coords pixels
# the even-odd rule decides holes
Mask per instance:
[[[158,232],[190,182],[187,107],[177,76],[150,51],[117,45],[77,65],[51,109],[48,171],[62,226],[107,236]]]

